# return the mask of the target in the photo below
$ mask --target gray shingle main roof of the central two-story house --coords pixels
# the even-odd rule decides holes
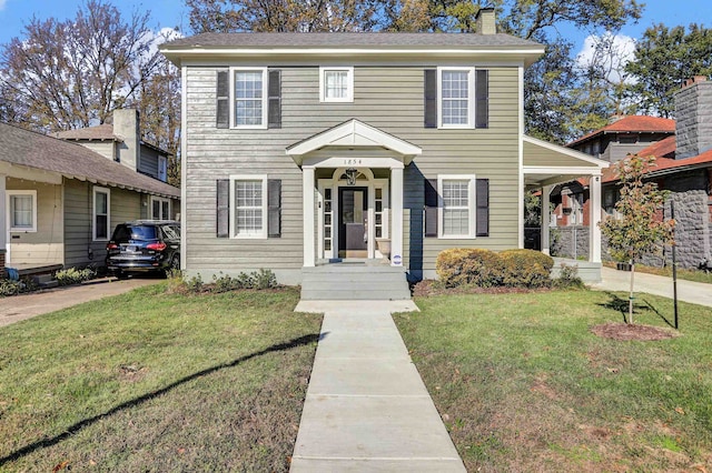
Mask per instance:
[[[201,33],[167,42],[161,50],[182,48],[475,48],[536,47],[511,34],[479,33]]]

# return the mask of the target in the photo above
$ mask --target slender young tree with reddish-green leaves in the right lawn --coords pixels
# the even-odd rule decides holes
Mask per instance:
[[[615,163],[621,182],[621,198],[615,203],[619,219],[609,218],[601,222],[601,232],[609,239],[611,254],[617,261],[631,263],[631,291],[629,300],[629,323],[633,323],[633,283],[635,262],[644,254],[660,252],[663,244],[672,244],[675,222],[661,219],[659,213],[666,192],[654,182],[645,181],[645,173],[655,165],[655,158],[637,154]]]

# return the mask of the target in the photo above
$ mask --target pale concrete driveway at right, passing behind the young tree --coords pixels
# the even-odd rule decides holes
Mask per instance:
[[[592,284],[593,289],[601,291],[623,291],[631,288],[631,273],[617,271],[611,268],[602,268],[603,281]],[[662,295],[672,299],[672,278],[659,276],[635,272],[635,292],[647,292],[649,294]],[[712,308],[712,284],[678,280],[678,299],[693,304]]]

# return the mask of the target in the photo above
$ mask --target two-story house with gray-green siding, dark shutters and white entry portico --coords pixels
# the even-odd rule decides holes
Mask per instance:
[[[523,73],[544,47],[496,33],[492,9],[477,22],[164,44],[182,71],[187,273],[270,269],[303,296],[344,260],[434,278],[444,249],[522,248],[525,187],[600,185],[605,162],[524,134]]]

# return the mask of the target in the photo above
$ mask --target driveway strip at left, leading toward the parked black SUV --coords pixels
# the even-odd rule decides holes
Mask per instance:
[[[132,289],[156,284],[160,281],[158,278],[132,278],[123,281],[106,278],[69,288],[57,288],[29,294],[0,298],[0,326],[81,304],[82,302],[122,294]]]

